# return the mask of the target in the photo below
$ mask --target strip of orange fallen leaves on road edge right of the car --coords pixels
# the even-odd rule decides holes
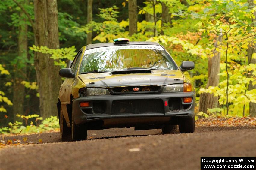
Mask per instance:
[[[201,118],[195,121],[196,126],[256,126],[256,117],[209,117]]]

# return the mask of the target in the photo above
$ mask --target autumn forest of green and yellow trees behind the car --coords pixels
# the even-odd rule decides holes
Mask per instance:
[[[256,116],[255,0],[0,1],[0,133],[58,127],[60,68],[90,43],[154,41],[196,87],[196,119]],[[12,122],[12,123],[11,123]]]

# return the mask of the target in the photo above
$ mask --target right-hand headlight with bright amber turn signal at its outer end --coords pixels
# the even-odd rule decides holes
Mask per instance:
[[[189,92],[192,91],[192,86],[190,83],[183,84],[174,84],[164,86],[163,93],[172,93],[172,92]]]

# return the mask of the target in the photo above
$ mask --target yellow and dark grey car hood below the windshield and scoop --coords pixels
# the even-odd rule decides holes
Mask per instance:
[[[88,73],[80,74],[79,78],[86,87],[123,87],[139,85],[169,85],[183,83],[184,76],[180,70],[152,70],[152,73],[117,74]]]

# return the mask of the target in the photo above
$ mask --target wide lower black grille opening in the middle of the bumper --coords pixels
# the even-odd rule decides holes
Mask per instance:
[[[112,114],[145,114],[164,113],[163,101],[151,100],[115,100],[112,103]]]

